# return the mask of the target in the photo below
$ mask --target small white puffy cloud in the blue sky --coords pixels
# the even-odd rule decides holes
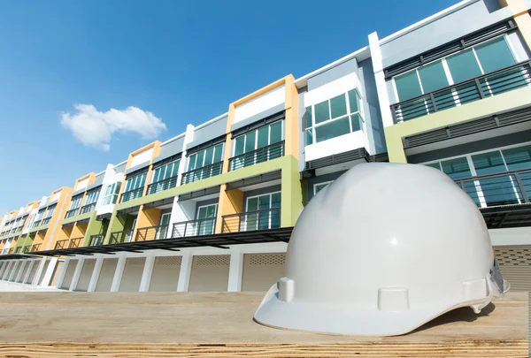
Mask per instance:
[[[137,133],[144,140],[153,140],[167,128],[153,113],[136,107],[125,110],[96,110],[92,104],[76,104],[77,112],[63,113],[61,125],[72,131],[81,143],[109,151],[114,133]]]

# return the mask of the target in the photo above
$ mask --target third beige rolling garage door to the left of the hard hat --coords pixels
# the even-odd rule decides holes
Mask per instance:
[[[175,292],[181,271],[181,256],[156,257],[150,279],[150,292]]]

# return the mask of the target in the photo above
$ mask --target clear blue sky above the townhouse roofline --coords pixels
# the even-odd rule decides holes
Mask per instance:
[[[139,134],[153,118],[161,122],[151,134],[165,141],[273,80],[366,46],[373,31],[382,38],[456,3],[1,2],[0,215],[127,159],[153,140]],[[107,111],[136,107],[143,125],[83,144],[61,124],[68,113],[84,126],[79,103],[99,119],[127,118]],[[89,134],[82,127],[80,135]]]

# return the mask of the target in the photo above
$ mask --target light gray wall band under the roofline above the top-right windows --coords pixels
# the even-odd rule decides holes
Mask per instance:
[[[409,33],[381,45],[384,67],[434,49],[473,31],[512,17],[509,7],[499,8],[495,0],[478,0]]]

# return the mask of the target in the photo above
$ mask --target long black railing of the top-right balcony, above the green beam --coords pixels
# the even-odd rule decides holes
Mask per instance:
[[[531,85],[531,62],[527,61],[392,104],[391,113],[395,124],[402,123],[529,85]]]

